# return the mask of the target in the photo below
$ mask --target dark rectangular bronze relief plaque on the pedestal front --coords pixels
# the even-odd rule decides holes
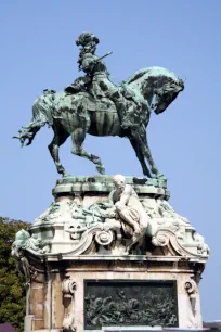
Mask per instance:
[[[178,327],[176,281],[84,280],[84,329]]]

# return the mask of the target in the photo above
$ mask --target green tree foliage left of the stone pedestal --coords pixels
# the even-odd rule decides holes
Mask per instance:
[[[28,222],[0,217],[0,323],[11,323],[17,332],[24,331],[26,290],[11,246],[16,232],[28,227]]]

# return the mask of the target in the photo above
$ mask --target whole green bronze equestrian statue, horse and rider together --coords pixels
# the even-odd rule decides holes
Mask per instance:
[[[151,111],[162,113],[184,89],[183,80],[168,69],[150,67],[116,86],[102,61],[105,55],[95,55],[99,38],[91,33],[83,33],[76,43],[81,46],[78,64],[86,76],[78,77],[60,93],[46,89],[43,95],[34,103],[31,122],[15,138],[20,139],[22,145],[28,140],[26,145],[29,145],[39,129],[48,124],[54,131],[49,145],[51,156],[57,171],[66,176],[58,149],[69,136],[73,139],[72,153],[93,162],[101,174],[105,174],[101,158],[83,149],[86,135],[127,137],[143,174],[164,178],[151,154],[146,127]]]

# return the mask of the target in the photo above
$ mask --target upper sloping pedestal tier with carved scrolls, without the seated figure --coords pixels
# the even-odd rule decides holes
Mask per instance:
[[[30,227],[30,235],[20,233],[23,247],[36,255],[49,254],[133,254],[205,257],[209,248],[186,218],[169,205],[164,180],[127,177],[146,213],[147,228],[136,245],[129,247],[119,220],[98,213],[104,208],[114,189],[112,177],[76,177],[57,180],[55,201]],[[108,203],[109,204],[109,203]],[[105,213],[105,210],[104,210]],[[24,239],[25,238],[25,239]],[[25,241],[26,240],[26,241]],[[21,245],[20,245],[21,246]]]

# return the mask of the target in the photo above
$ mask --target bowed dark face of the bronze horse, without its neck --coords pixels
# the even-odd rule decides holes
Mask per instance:
[[[183,89],[184,81],[182,79],[168,80],[161,87],[156,88],[154,90],[155,101],[152,104],[152,110],[156,114],[162,113]]]

